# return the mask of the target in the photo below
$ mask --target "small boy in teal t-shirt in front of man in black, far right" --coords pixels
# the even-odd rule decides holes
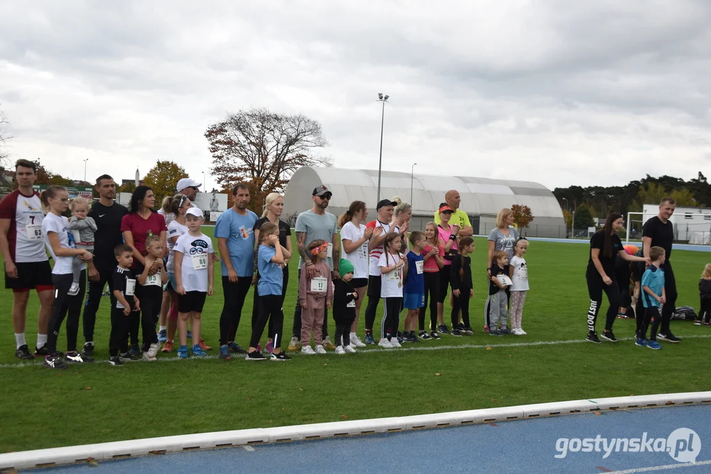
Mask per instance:
[[[642,275],[642,292],[640,298],[644,305],[644,321],[637,332],[635,345],[643,348],[661,349],[657,343],[657,330],[662,321],[661,311],[666,303],[666,291],[664,289],[664,271],[659,268],[665,262],[666,252],[662,247],[651,247],[649,258],[652,264]],[[652,323],[652,330],[649,334],[649,342],[645,340],[647,327]]]

